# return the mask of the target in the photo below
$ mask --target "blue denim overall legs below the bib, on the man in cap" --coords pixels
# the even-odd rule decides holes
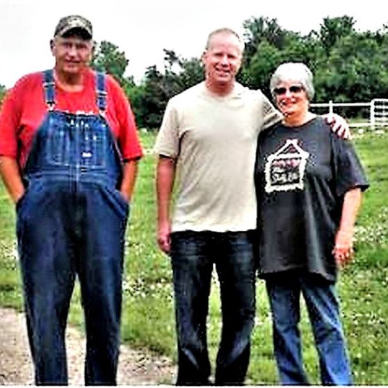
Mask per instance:
[[[76,275],[86,323],[87,385],[115,384],[128,207],[102,185],[44,178],[17,204],[27,328],[37,385],[66,385],[65,328]],[[101,225],[104,225],[102,227]]]

